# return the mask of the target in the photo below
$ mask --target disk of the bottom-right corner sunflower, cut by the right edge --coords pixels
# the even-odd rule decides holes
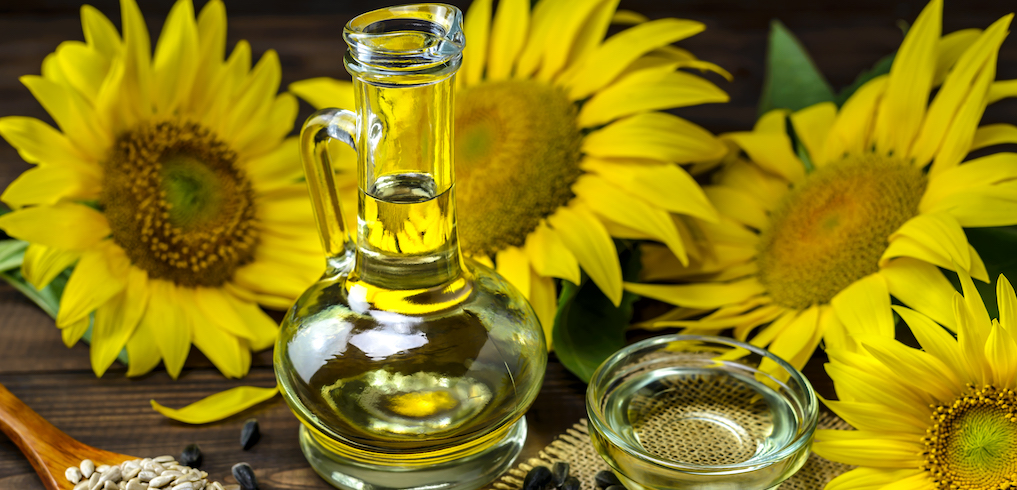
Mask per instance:
[[[985,386],[937,407],[923,442],[938,488],[1017,485],[1017,393]]]

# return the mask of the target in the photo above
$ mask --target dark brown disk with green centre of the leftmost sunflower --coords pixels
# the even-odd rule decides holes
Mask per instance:
[[[191,123],[146,123],[117,139],[100,204],[113,240],[152,279],[218,287],[258,241],[250,182],[236,154]]]

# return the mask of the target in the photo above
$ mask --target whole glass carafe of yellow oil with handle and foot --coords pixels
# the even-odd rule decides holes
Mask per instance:
[[[408,5],[350,21],[357,112],[319,111],[301,146],[325,272],[290,309],[275,351],[301,449],[344,489],[480,488],[526,437],[546,344],[532,308],[465,259],[456,229],[454,75],[461,13]],[[327,146],[357,150],[356,240]]]

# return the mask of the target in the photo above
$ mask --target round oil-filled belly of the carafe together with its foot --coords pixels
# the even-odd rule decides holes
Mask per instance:
[[[472,263],[427,290],[312,286],[283,320],[276,376],[301,445],[340,488],[479,488],[512,465],[547,350],[523,295]]]

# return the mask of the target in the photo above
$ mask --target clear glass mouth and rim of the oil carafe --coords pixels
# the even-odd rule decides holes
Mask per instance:
[[[347,68],[358,75],[453,72],[463,59],[463,13],[440,3],[401,5],[358,15],[346,24]]]

